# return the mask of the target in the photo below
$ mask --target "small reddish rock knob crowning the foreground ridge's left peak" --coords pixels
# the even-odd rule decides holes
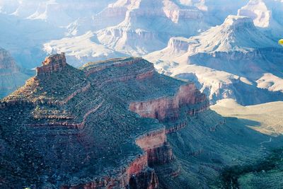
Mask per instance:
[[[42,67],[36,68],[36,75],[48,75],[56,71],[61,71],[67,66],[66,57],[64,52],[60,55],[52,55],[47,57],[44,62],[42,62]]]

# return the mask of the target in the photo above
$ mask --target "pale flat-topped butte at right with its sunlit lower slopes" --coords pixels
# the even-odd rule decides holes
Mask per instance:
[[[241,104],[255,104],[282,99],[279,90],[272,93],[256,84],[266,73],[282,78],[282,53],[277,42],[255,27],[252,18],[228,16],[224,23],[200,35],[171,38],[166,48],[145,58],[164,74],[195,81],[212,103],[233,98]],[[258,95],[254,98],[243,91]]]

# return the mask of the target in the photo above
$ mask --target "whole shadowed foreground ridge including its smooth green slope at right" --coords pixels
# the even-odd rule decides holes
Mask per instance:
[[[52,55],[0,108],[4,188],[207,187],[224,166],[265,153],[257,146],[267,136],[137,57],[75,69]]]

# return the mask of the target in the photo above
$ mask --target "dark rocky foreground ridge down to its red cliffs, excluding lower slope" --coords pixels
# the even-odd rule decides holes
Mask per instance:
[[[5,166],[12,167],[7,170],[13,176],[18,159],[33,162],[28,170],[19,165],[22,174],[28,173],[19,182],[38,188],[48,183],[57,188],[158,188],[154,166],[175,160],[166,134],[182,129],[186,116],[207,107],[193,84],[159,75],[144,59],[111,59],[75,69],[64,54],[52,55],[33,79],[0,103],[0,142],[8,145],[4,154],[21,151]],[[35,175],[41,176],[36,182]]]

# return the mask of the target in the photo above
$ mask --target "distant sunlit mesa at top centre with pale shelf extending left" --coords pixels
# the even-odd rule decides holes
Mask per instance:
[[[48,54],[66,52],[70,64],[140,56],[166,46],[172,36],[190,37],[209,28],[196,6],[175,1],[116,1],[92,18],[67,26],[67,38],[46,42]]]

